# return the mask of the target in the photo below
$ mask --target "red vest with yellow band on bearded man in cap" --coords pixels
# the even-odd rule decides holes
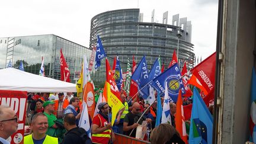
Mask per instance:
[[[101,114],[97,114],[95,117],[99,117],[100,118],[100,128],[104,127],[104,123],[107,120],[105,120],[104,117],[101,116]],[[108,141],[110,140],[110,134],[111,134],[111,130],[110,129],[107,129],[107,130],[105,130],[102,133],[92,134],[92,142],[93,143],[104,143],[104,144],[107,144]]]

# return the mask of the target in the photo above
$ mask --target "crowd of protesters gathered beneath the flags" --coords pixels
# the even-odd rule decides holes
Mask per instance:
[[[95,98],[98,98],[101,89],[95,89]],[[145,103],[145,101],[136,97],[133,100],[127,97],[126,92],[120,92],[120,100],[124,104],[117,113],[114,125],[111,126],[111,108],[107,103],[98,104],[100,112],[91,119],[91,138],[87,132],[78,127],[78,121],[81,117],[81,100],[76,97],[76,94],[67,93],[30,93],[28,94],[28,110],[27,117],[31,116],[30,135],[24,137],[24,143],[113,143],[115,140],[114,133],[136,137],[136,128],[146,121],[147,132],[143,140],[151,141],[152,143],[161,142],[181,142],[180,135],[175,130],[175,113],[176,105],[170,103],[171,124],[160,124],[155,127],[157,103]],[[97,102],[97,100],[95,100]],[[162,102],[162,101],[161,101]],[[183,104],[191,104],[191,98],[184,98]],[[4,109],[8,107],[0,106],[0,128],[5,121],[2,120]],[[8,109],[9,110],[9,109]],[[145,114],[142,113],[145,112]],[[14,115],[14,114],[12,114]],[[17,123],[18,118],[15,117],[14,122]],[[12,122],[12,121],[9,122]],[[186,121],[189,127],[189,121]],[[168,125],[168,126],[167,126]],[[15,125],[14,125],[15,126]],[[168,138],[162,138],[162,130],[169,132]],[[7,139],[8,135],[2,134],[0,129],[0,143]],[[189,132],[187,132],[189,133]],[[174,141],[170,141],[174,137]],[[167,139],[167,140],[166,140]],[[180,141],[177,141],[180,140]],[[2,141],[1,141],[2,140]],[[160,141],[159,141],[160,140]],[[162,140],[162,141],[161,141]],[[164,140],[164,141],[163,141]],[[3,143],[3,142],[2,142]]]

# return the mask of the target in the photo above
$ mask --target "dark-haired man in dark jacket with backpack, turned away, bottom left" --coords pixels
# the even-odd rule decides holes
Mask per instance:
[[[76,126],[76,119],[73,114],[66,114],[63,120],[63,124],[68,132],[66,133],[62,144],[91,143],[91,139],[88,137],[85,129]]]

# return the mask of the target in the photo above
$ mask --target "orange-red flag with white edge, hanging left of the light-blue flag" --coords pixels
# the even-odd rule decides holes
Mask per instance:
[[[180,133],[181,139],[187,142],[187,132],[185,129],[185,119],[184,119],[184,112],[183,112],[183,102],[181,100],[181,90],[179,91],[178,100],[177,100],[177,109],[175,114],[175,128]]]

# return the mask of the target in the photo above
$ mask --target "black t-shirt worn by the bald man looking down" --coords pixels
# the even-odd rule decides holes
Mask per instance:
[[[139,113],[139,114],[133,114],[131,112],[127,113],[126,116],[124,117],[124,122],[125,123],[128,123],[128,126],[132,126],[134,123],[137,123],[137,121],[139,120],[140,116],[142,114]],[[142,121],[143,120],[146,120],[146,117],[145,116],[142,116],[142,119],[140,119],[139,121],[139,124],[142,124]],[[132,132],[132,129],[127,131],[127,132],[124,132],[124,135],[127,135],[129,136],[130,135],[130,132]],[[136,137],[136,129],[133,130],[132,132],[132,135],[130,135],[132,137]]]

